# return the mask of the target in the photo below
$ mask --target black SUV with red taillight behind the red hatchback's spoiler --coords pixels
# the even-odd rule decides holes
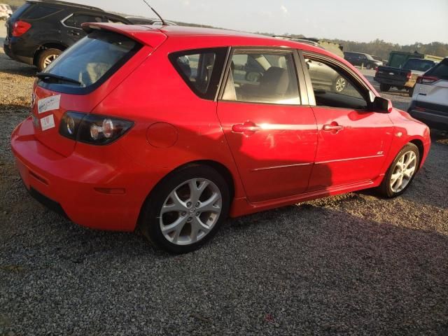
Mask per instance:
[[[63,1],[27,1],[6,22],[6,55],[19,62],[35,65],[42,71],[63,50],[85,36],[84,22],[130,20],[106,13],[101,8]]]

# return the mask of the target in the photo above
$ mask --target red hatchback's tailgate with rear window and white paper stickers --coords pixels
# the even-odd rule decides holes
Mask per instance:
[[[59,132],[64,113],[90,113],[167,38],[157,29],[116,26],[87,25],[88,36],[38,73],[31,97],[35,137],[61,155],[76,146]]]

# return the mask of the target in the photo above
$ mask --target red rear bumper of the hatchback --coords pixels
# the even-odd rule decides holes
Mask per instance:
[[[76,151],[69,157],[59,155],[34,137],[31,118],[14,130],[11,148],[25,186],[48,208],[88,228],[135,229],[151,188],[141,183],[143,169],[135,169],[129,158],[112,159],[110,164],[108,160],[106,165]],[[123,193],[105,191],[109,188]]]

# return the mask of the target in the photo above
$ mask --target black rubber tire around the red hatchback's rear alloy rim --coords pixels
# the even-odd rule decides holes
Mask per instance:
[[[215,183],[221,192],[222,208],[214,228],[200,241],[190,245],[176,245],[168,241],[160,230],[159,214],[169,193],[181,183],[190,179],[207,179]],[[144,204],[143,216],[139,227],[153,245],[170,253],[188,253],[195,251],[216,235],[230,209],[230,191],[228,183],[215,169],[205,165],[191,165],[178,169],[165,177],[151,192]]]

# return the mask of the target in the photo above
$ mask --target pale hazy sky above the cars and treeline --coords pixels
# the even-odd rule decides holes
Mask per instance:
[[[143,0],[76,0],[154,18]],[[448,0],[148,0],[165,20],[401,45],[448,43]]]

